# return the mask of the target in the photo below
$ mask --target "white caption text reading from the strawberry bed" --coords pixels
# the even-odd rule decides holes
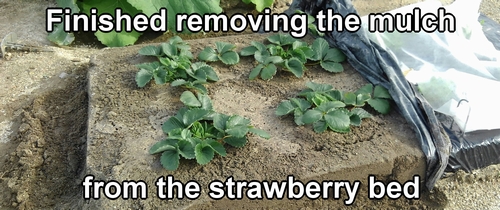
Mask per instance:
[[[368,176],[368,198],[382,199],[387,196],[390,199],[419,199],[420,198],[420,176],[413,176],[412,180],[405,183],[398,181],[382,182],[375,176]],[[195,180],[183,183],[175,180],[172,175],[159,177],[154,183],[156,197],[162,200],[171,199],[199,199],[202,192],[201,185]],[[94,180],[93,175],[88,175],[82,181],[85,199],[147,199],[148,184],[139,181],[117,182]],[[356,196],[360,190],[360,181],[308,181],[304,183],[289,175],[285,180],[272,181],[246,181],[235,180],[232,176],[225,181],[214,180],[208,184],[208,196],[211,199],[219,200],[228,198],[230,200],[240,200],[248,198],[250,200],[262,199],[343,199],[345,205],[352,205],[356,201]]]

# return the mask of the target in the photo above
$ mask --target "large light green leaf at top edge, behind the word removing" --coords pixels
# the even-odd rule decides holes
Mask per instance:
[[[114,3],[115,1],[109,1]],[[165,7],[167,9],[167,29],[169,31],[175,31],[176,29],[176,15],[177,14],[199,14],[203,16],[204,14],[219,14],[222,12],[220,7],[220,0],[182,0],[182,1],[171,1],[171,0],[150,0],[144,2],[142,0],[128,0],[128,2],[142,11],[148,17],[154,13],[158,13],[159,8]],[[117,8],[117,7],[112,7]],[[112,13],[114,14],[114,13]],[[187,28],[183,27],[183,31],[187,31]]]

